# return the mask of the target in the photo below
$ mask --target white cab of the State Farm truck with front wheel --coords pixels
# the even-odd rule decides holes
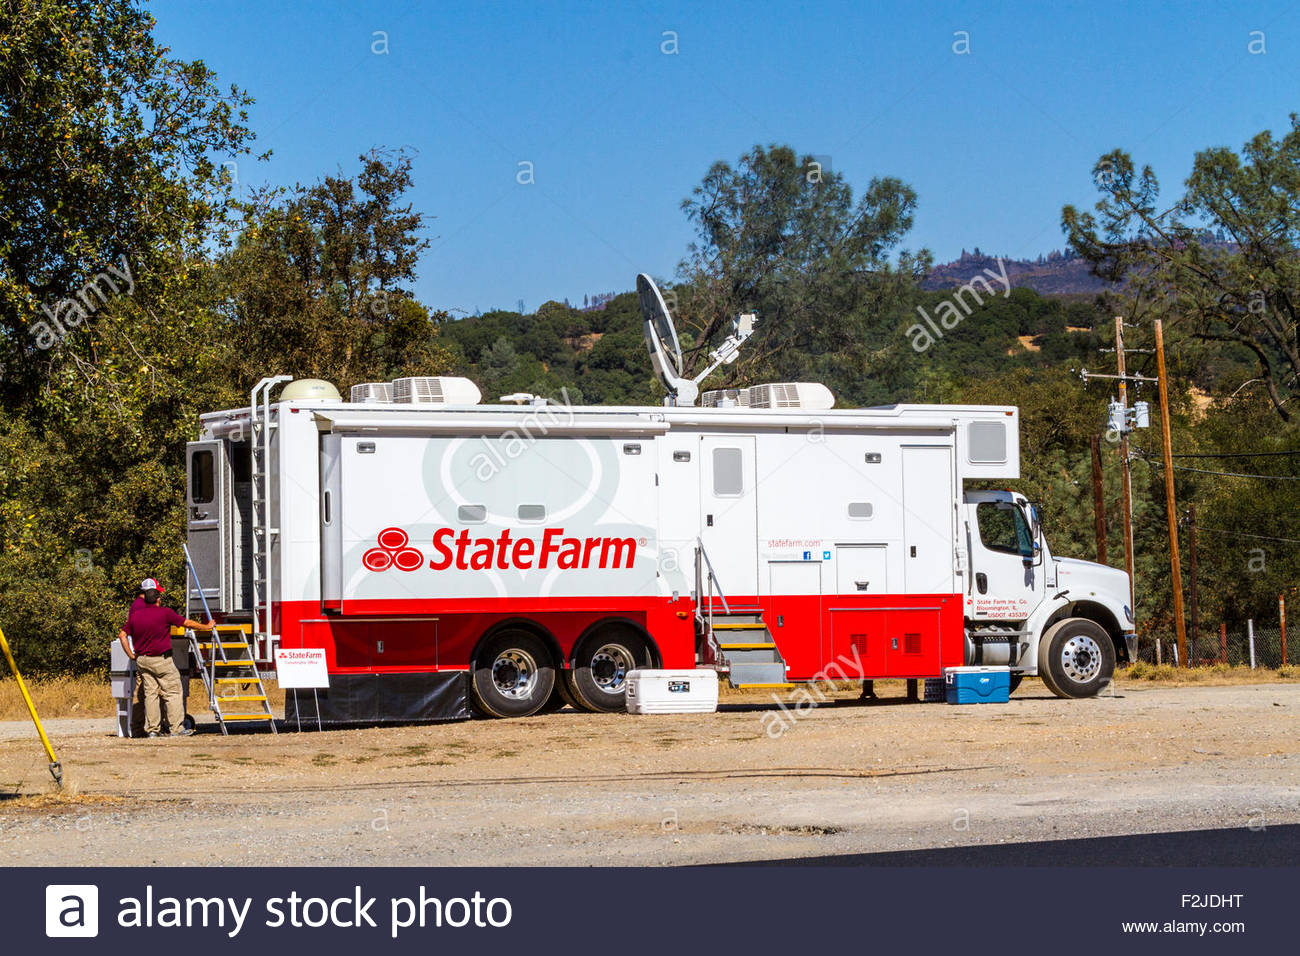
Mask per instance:
[[[1128,575],[1052,553],[1037,505],[1006,490],[962,499],[966,658],[1091,697],[1136,654]]]

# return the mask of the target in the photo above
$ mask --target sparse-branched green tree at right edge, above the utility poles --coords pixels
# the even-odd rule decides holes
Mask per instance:
[[[1199,152],[1182,196],[1164,208],[1150,166],[1139,172],[1122,150],[1092,174],[1096,211],[1061,213],[1070,246],[1097,274],[1126,281],[1128,316],[1164,315],[1202,342],[1245,350],[1290,420],[1300,376],[1300,118],[1280,138],[1260,133],[1240,155]]]

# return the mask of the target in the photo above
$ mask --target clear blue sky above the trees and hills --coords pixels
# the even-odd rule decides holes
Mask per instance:
[[[1110,148],[1149,163],[1171,195],[1197,150],[1239,148],[1300,111],[1300,5],[1136,7],[151,9],[161,42],[256,98],[257,147],[274,155],[240,161],[242,185],[352,173],[373,146],[415,151],[411,199],[433,217],[416,291],[472,312],[672,276],[692,238],[681,199],[755,143],[829,156],[857,189],[911,183],[907,246],[942,261],[1060,247],[1061,206],[1093,202],[1089,169]],[[372,52],[377,31],[386,53]],[[968,53],[954,52],[958,31]]]

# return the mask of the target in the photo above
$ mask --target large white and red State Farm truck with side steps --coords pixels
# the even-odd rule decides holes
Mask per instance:
[[[326,722],[620,710],[638,666],[776,687],[991,663],[1080,697],[1131,653],[1122,571],[1053,555],[1022,496],[965,490],[1018,477],[1013,407],[832,410],[807,384],[480,405],[463,378],[272,401],[281,381],[188,446],[187,592],[263,667],[322,649]]]

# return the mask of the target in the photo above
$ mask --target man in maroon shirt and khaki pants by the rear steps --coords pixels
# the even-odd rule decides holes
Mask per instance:
[[[166,704],[166,722],[172,736],[183,737],[194,734],[185,727],[185,701],[181,696],[181,672],[172,659],[172,628],[190,627],[212,630],[212,622],[200,624],[198,620],[182,618],[170,607],[159,604],[162,588],[152,578],[140,581],[142,600],[131,605],[126,623],[117,633],[122,650],[135,661],[144,685],[144,732],[156,737],[162,730],[162,714],[159,708],[159,693]],[[130,639],[130,640],[127,640]]]

